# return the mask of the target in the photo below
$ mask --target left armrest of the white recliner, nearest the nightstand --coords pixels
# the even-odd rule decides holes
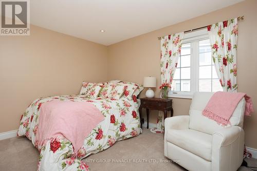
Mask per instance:
[[[164,127],[168,129],[188,129],[189,128],[189,116],[176,116],[166,118],[164,121]]]

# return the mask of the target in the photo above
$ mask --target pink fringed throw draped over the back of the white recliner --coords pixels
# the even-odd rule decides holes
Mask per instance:
[[[227,125],[242,98],[246,100],[245,115],[250,116],[250,113],[254,111],[252,100],[242,92],[215,92],[202,113],[219,124]]]

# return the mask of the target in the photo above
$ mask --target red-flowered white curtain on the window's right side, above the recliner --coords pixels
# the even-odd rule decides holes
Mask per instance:
[[[237,18],[207,27],[212,59],[224,91],[236,92]]]

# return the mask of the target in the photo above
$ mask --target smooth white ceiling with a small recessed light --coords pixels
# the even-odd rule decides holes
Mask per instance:
[[[241,1],[31,0],[30,17],[33,25],[111,45]]]

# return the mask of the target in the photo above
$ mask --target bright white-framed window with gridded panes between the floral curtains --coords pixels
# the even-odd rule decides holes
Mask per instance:
[[[207,30],[184,35],[169,97],[192,98],[195,91],[223,91],[213,64]]]

